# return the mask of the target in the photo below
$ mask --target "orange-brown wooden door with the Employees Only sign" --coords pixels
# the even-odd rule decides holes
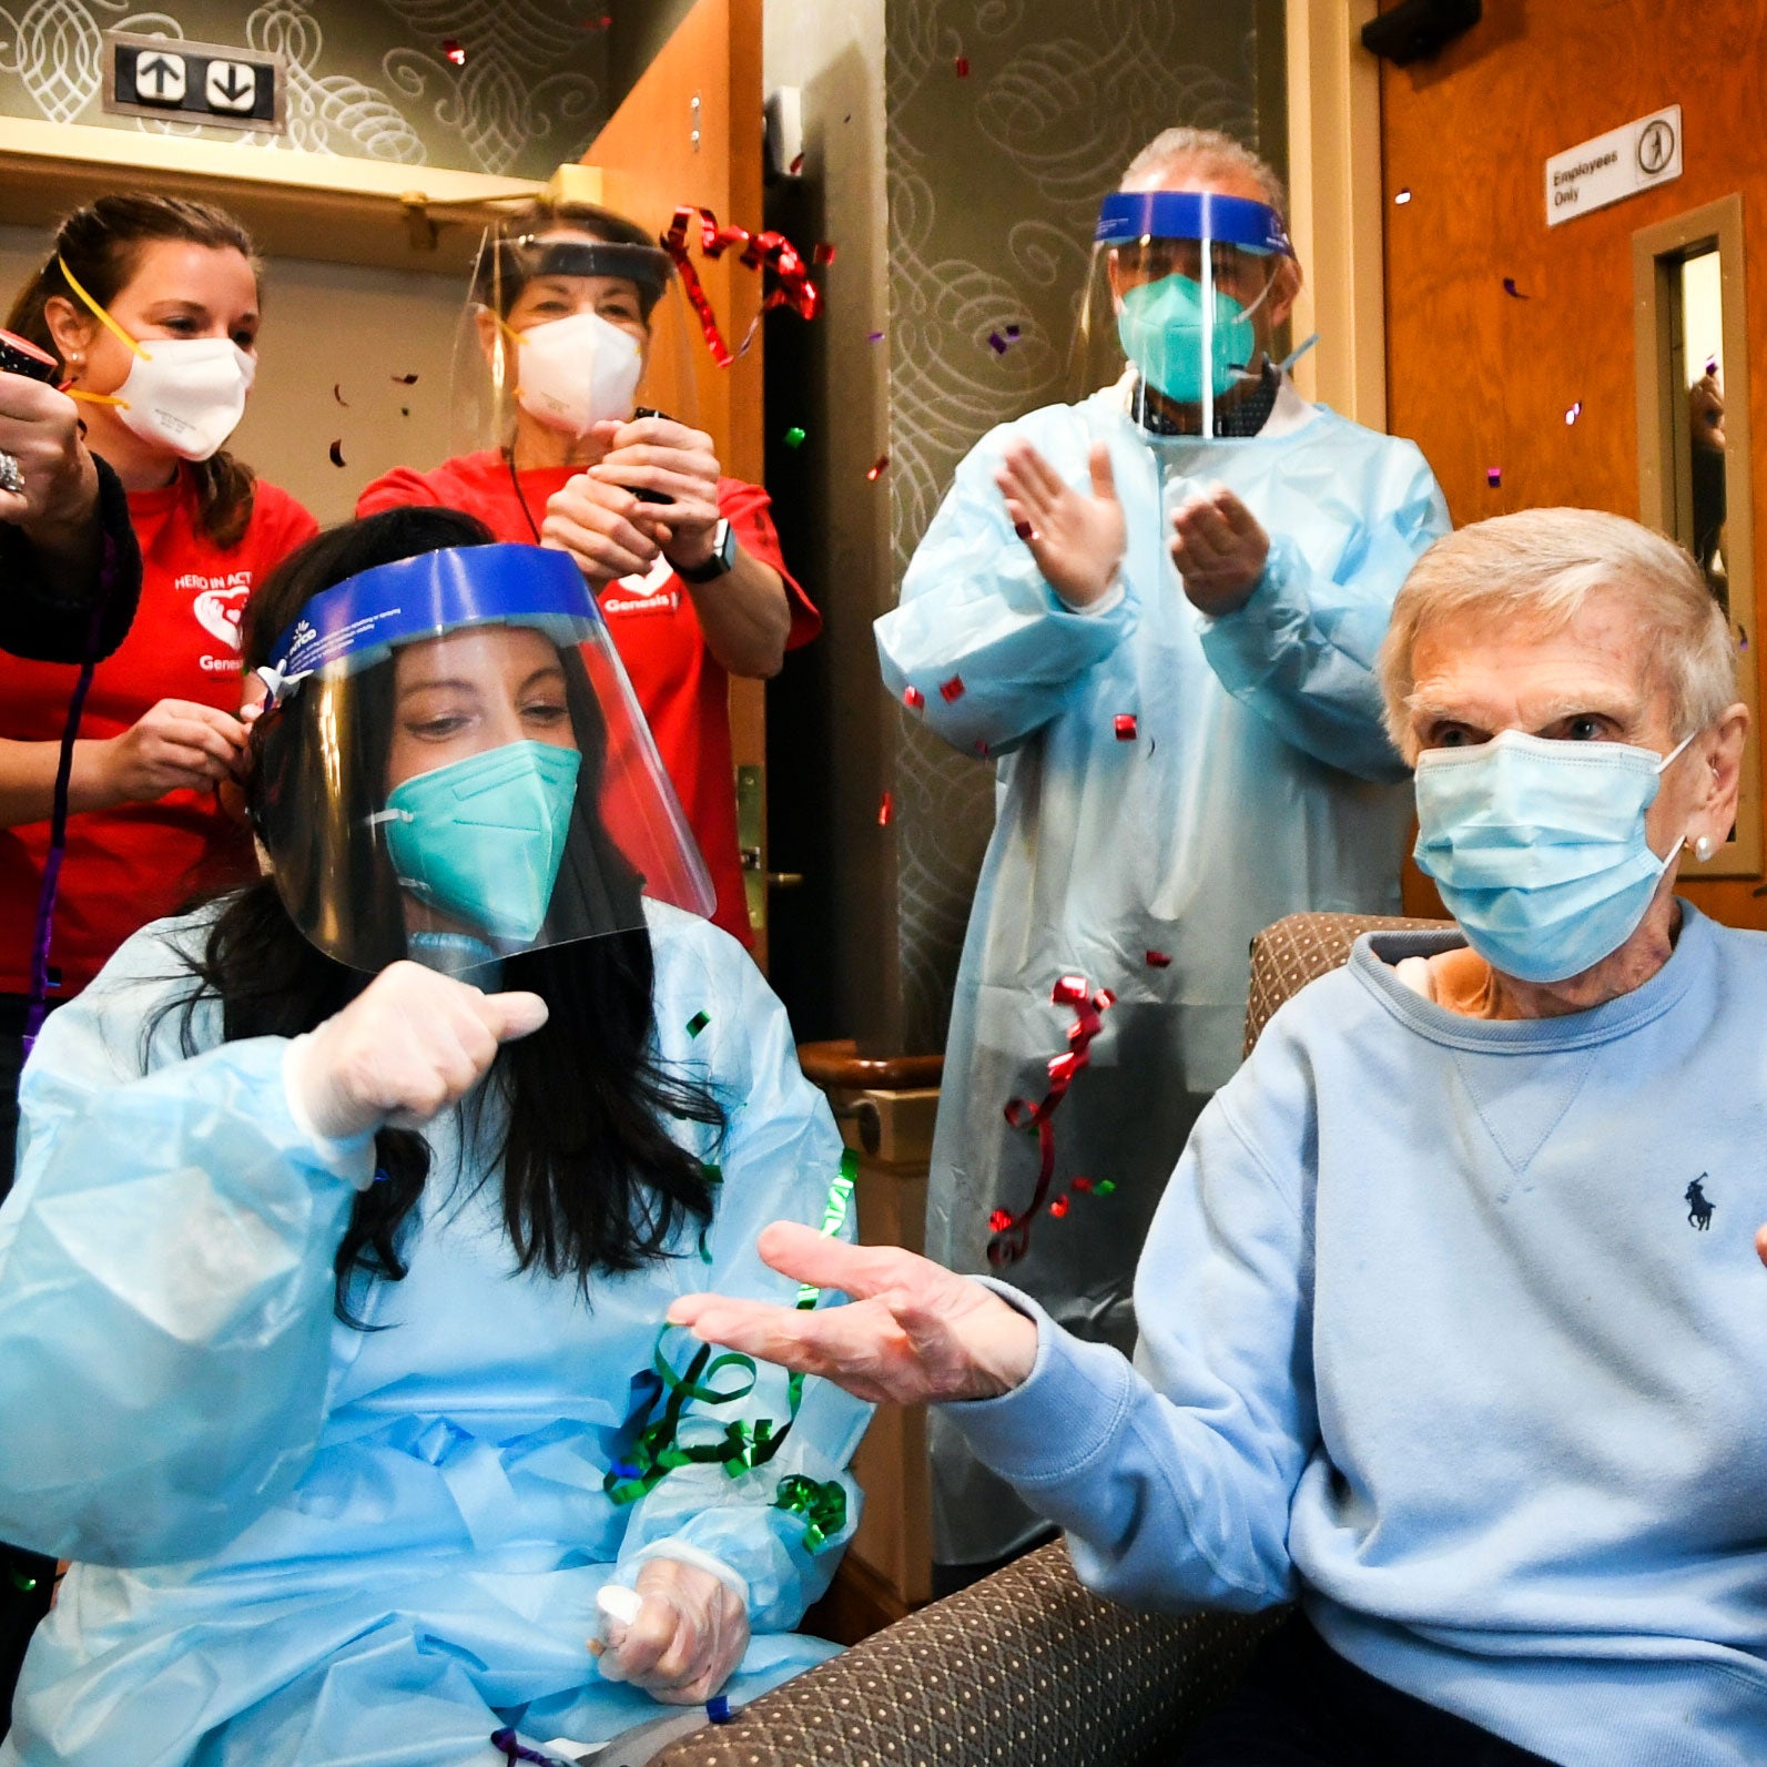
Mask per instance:
[[[1763,53],[1756,0],[1486,0],[1440,57],[1382,69],[1387,408],[1456,525],[1555,504],[1642,514],[1634,233],[1740,194],[1744,330],[1767,362]],[[1668,104],[1682,106],[1682,175],[1548,226],[1546,159]],[[1763,387],[1725,391],[1767,435]],[[1756,509],[1763,477],[1756,449]],[[1682,876],[1709,914],[1767,928],[1758,876]],[[1433,896],[1408,876],[1410,912],[1440,912]]]

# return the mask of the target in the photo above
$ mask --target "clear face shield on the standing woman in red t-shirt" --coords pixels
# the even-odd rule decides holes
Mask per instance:
[[[454,343],[454,451],[569,459],[597,422],[696,422],[693,313],[659,244],[599,239],[595,212],[486,230]],[[518,445],[519,444],[519,445]]]

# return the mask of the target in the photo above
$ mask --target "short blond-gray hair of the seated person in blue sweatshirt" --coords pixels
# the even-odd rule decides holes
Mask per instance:
[[[1392,604],[1380,647],[1387,732],[1414,758],[1410,696],[1417,634],[1460,613],[1553,633],[1596,592],[1638,620],[1647,684],[1668,696],[1677,740],[1709,730],[1737,701],[1737,657],[1700,567],[1661,534],[1599,509],[1523,509],[1431,546]]]

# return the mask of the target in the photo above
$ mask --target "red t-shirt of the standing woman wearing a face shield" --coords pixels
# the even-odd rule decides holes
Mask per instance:
[[[541,466],[523,472],[518,493],[502,454],[463,454],[459,459],[445,459],[435,472],[413,472],[408,466],[389,472],[362,493],[355,512],[373,516],[382,509],[436,504],[477,516],[500,541],[532,542],[535,528],[546,519],[546,500],[581,470]],[[809,643],[822,629],[822,615],[785,567],[779,535],[767,514],[767,493],[740,479],[719,479],[717,507],[735,528],[742,550],[751,558],[770,564],[785,581],[786,599],[792,603],[786,648]],[[610,583],[601,592],[601,611],[712,875],[717,891],[712,919],[744,945],[753,945],[742,861],[737,853],[730,675],[705,648],[693,595],[661,558],[648,576]]]

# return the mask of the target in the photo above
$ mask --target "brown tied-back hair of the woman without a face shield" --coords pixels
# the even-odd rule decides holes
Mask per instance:
[[[46,304],[60,295],[81,313],[85,302],[74,293],[62,263],[74,272],[81,288],[104,309],[129,286],[141,247],[155,239],[189,240],[240,253],[260,276],[258,251],[251,235],[224,209],[193,203],[182,196],[148,196],[125,191],[101,196],[76,209],[55,230],[49,258],[32,281],[19,290],[5,327],[58,357],[60,346],[44,315]],[[256,479],[251,468],[226,449],[209,459],[187,463],[196,482],[196,527],[223,550],[237,546],[251,523]]]

